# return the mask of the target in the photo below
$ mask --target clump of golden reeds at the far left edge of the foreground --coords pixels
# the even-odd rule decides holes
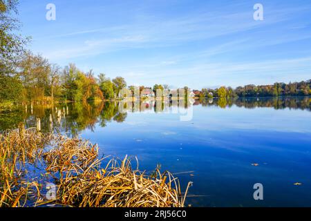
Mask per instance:
[[[22,206],[28,193],[37,189],[37,182],[25,182],[27,165],[35,165],[50,135],[33,130],[0,133],[0,206]],[[23,202],[23,204],[22,204]]]

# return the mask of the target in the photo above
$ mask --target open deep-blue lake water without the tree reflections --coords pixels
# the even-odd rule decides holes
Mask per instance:
[[[178,113],[128,111],[103,126],[94,115],[78,134],[97,143],[100,155],[137,156],[141,170],[160,164],[177,173],[184,191],[193,182],[192,206],[311,206],[308,99],[304,108],[198,104],[185,122]],[[263,200],[253,198],[255,183],[263,184]]]

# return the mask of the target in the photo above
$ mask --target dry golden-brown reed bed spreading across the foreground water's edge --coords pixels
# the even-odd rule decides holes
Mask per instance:
[[[167,171],[133,169],[133,160],[98,157],[98,147],[64,135],[15,130],[0,134],[0,206],[181,207],[178,179]],[[42,177],[28,165],[40,164]],[[55,198],[46,199],[46,182]]]

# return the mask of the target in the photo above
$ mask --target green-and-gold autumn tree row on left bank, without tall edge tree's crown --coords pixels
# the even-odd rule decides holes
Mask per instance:
[[[122,77],[95,77],[93,70],[84,73],[75,64],[61,68],[49,64],[41,55],[24,53],[14,71],[0,77],[0,101],[34,102],[42,100],[88,101],[109,99],[126,87]]]

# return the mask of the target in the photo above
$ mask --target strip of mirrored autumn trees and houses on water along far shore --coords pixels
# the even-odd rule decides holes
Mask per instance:
[[[95,131],[97,123],[104,127],[109,122],[124,122],[127,113],[178,113],[174,108],[187,109],[193,106],[217,106],[230,108],[290,108],[311,111],[310,97],[274,97],[244,99],[197,99],[193,102],[144,100],[136,102],[81,102],[45,106],[20,106],[15,111],[0,113],[0,130],[36,127],[42,132],[68,133],[76,136],[79,131]]]

